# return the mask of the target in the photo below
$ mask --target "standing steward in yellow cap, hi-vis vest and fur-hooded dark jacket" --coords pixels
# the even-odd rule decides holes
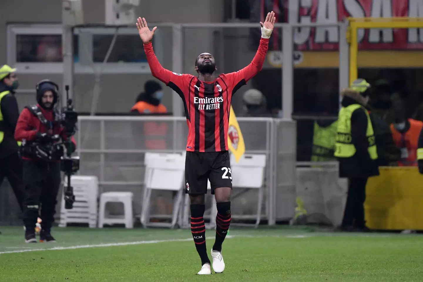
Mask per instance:
[[[349,178],[343,230],[367,229],[363,206],[365,186],[368,177],[379,175],[373,126],[365,109],[369,88],[364,79],[356,79],[351,88],[341,93],[335,157],[339,160],[340,177]]]

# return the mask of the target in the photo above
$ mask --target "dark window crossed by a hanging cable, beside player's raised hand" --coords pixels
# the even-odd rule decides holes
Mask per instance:
[[[93,35],[94,63],[103,62],[112,40],[113,34]],[[143,42],[138,35],[118,35],[107,60],[108,63],[142,63],[146,61],[147,58],[144,52]]]

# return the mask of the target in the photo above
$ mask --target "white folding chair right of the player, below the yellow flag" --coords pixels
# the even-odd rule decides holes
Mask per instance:
[[[258,189],[257,214],[254,227],[257,228],[261,220],[261,205],[264,193],[264,168],[266,167],[265,154],[244,154],[239,162],[231,154],[232,187]],[[232,218],[236,218],[235,215]],[[236,224],[231,225],[250,225]]]

